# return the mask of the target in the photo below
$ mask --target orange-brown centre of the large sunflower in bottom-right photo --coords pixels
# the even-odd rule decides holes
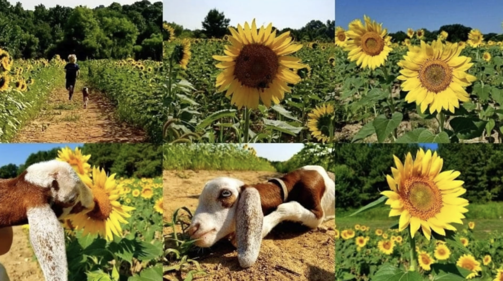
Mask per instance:
[[[405,181],[402,198],[411,216],[428,220],[440,212],[442,194],[431,180],[411,177]]]

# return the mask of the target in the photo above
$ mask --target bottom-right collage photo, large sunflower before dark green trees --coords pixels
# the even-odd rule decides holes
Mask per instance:
[[[336,280],[500,280],[503,147],[339,144]]]

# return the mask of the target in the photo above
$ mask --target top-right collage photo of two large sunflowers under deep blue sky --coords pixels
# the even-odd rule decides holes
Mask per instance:
[[[501,142],[503,2],[458,3],[337,1],[337,142]]]

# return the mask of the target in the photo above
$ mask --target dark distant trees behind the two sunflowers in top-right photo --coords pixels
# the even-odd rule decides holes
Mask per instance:
[[[423,29],[423,31],[425,32],[425,39],[423,39],[423,40],[426,42],[435,41],[435,40],[437,40],[437,37],[439,36],[439,34],[442,31],[445,31],[449,34],[449,36],[447,37],[447,41],[452,42],[452,43],[458,43],[460,41],[466,42],[468,40],[468,34],[470,33],[471,30],[472,30],[472,28],[465,27],[460,24],[445,25],[445,26],[440,27],[439,30],[435,30],[435,31],[429,31],[428,29]],[[416,31],[417,30],[414,30],[414,38],[416,38],[416,34],[415,34]],[[406,38],[409,38],[407,36],[406,31],[399,31],[396,33],[390,33],[389,36],[391,36],[391,42],[393,42],[393,43],[400,43],[400,42],[405,41]],[[503,34],[498,35],[496,33],[488,33],[488,34],[484,34],[483,37],[484,37],[485,42],[503,41]]]

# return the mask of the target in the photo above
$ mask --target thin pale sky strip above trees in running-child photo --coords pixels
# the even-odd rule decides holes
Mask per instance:
[[[45,8],[49,9],[51,7],[56,7],[56,5],[63,7],[74,8],[77,6],[87,6],[88,8],[96,8],[100,5],[105,7],[110,6],[110,4],[116,2],[121,5],[131,5],[139,0],[8,0],[11,5],[16,5],[17,2],[23,4],[25,10],[35,10],[35,6],[43,4]],[[160,1],[160,0],[159,0]],[[150,0],[150,3],[155,3],[157,0]]]

